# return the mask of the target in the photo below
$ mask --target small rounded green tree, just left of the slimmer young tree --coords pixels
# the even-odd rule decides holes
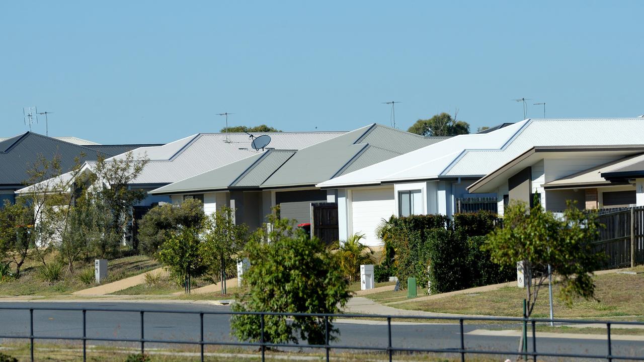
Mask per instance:
[[[184,278],[185,292],[189,293],[191,278],[204,274],[206,269],[203,250],[199,230],[184,227],[162,243],[156,258],[166,265],[173,275]]]

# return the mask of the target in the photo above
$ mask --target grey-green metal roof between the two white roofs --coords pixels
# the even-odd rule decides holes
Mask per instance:
[[[243,174],[238,173],[238,178],[228,186],[229,188],[260,187],[262,189],[311,186],[341,175],[346,170],[370,166],[444,139],[422,137],[399,129],[370,124],[298,151],[277,149],[267,151],[263,157],[257,158],[251,166],[243,169]],[[236,164],[246,165],[248,161],[245,159]],[[234,164],[160,187],[152,193],[224,189],[222,182],[230,180],[223,175],[229,175],[232,172],[232,165]]]

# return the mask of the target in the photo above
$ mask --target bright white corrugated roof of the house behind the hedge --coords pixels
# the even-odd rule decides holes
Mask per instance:
[[[320,187],[488,175],[535,146],[644,144],[644,119],[527,119],[490,133],[460,135],[339,176]]]

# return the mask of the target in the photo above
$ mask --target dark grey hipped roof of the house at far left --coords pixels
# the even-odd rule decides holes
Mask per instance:
[[[136,147],[132,145],[132,147],[121,148],[115,145],[112,150],[122,153],[120,152],[122,149],[129,151]],[[108,158],[119,154],[108,151],[108,148],[95,149],[80,146],[33,132],[7,138],[0,142],[0,185],[17,188],[23,186],[29,178],[27,171],[32,169],[33,164],[41,157],[52,160],[54,156],[58,156],[62,171],[67,172],[75,165],[77,157],[80,162],[85,162],[96,160],[99,155]]]

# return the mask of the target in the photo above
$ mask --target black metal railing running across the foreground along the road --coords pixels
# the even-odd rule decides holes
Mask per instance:
[[[644,326],[644,322],[634,321],[591,321],[579,319],[546,319],[546,318],[511,318],[511,317],[448,317],[448,316],[390,316],[390,315],[374,315],[374,314],[321,314],[321,313],[278,313],[278,312],[223,312],[223,311],[187,311],[187,310],[143,310],[143,309],[101,309],[101,308],[67,308],[67,307],[2,307],[0,310],[29,310],[30,316],[30,329],[28,335],[0,335],[0,339],[29,339],[30,341],[30,355],[33,362],[33,348],[35,339],[58,339],[58,340],[71,340],[82,341],[82,358],[86,361],[87,357],[87,341],[112,341],[112,342],[133,342],[140,343],[141,353],[146,351],[146,343],[176,343],[183,345],[199,345],[201,361],[204,361],[204,347],[206,345],[222,345],[222,346],[241,346],[241,347],[260,347],[261,360],[265,361],[265,351],[267,347],[295,347],[295,348],[323,348],[326,353],[326,361],[330,361],[330,350],[370,350],[386,352],[389,361],[392,361],[395,352],[428,352],[440,354],[460,354],[460,360],[466,361],[468,355],[475,354],[495,354],[495,355],[510,355],[510,356],[529,356],[536,361],[537,357],[569,357],[569,358],[591,358],[591,359],[606,359],[607,361],[613,360],[630,360],[630,361],[644,361],[644,356],[618,356],[612,354],[612,340],[611,340],[611,325],[632,325]],[[82,336],[77,337],[61,337],[61,336],[47,336],[35,335],[33,331],[33,311],[34,310],[66,310],[82,312]],[[140,314],[140,338],[90,338],[86,334],[86,312],[134,312]],[[146,314],[192,314],[198,315],[200,318],[200,338],[198,341],[182,340],[182,339],[148,339],[145,337],[145,316]],[[256,315],[260,316],[261,338],[258,342],[234,342],[234,341],[205,341],[204,340],[204,316],[206,315]],[[295,344],[295,343],[271,343],[265,340],[264,335],[264,317],[265,316],[285,316],[285,317],[310,317],[319,318],[325,321],[326,334],[324,345],[308,345],[308,344]],[[80,316],[79,316],[80,317]],[[386,347],[377,346],[356,346],[356,345],[330,345],[329,336],[329,323],[333,318],[381,318],[387,321],[388,344]],[[392,345],[392,318],[394,319],[431,319],[443,321],[455,321],[459,323],[459,336],[460,348],[403,348],[393,347]],[[530,330],[532,340],[532,350],[524,350],[524,352],[517,352],[516,350],[481,350],[476,348],[465,347],[465,333],[464,322],[466,321],[506,321],[517,322],[524,325],[526,331]],[[606,325],[607,336],[607,350],[606,354],[564,354],[543,351],[540,352],[536,348],[536,324],[537,323],[576,323],[576,324],[603,324]],[[529,327],[528,327],[529,326]],[[528,332],[526,332],[528,333]],[[526,344],[527,345],[527,344]]]

